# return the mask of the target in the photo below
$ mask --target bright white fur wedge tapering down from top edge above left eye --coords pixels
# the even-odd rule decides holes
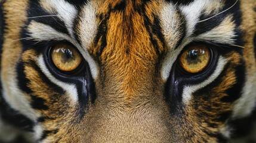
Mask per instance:
[[[64,0],[41,0],[42,7],[51,8],[51,11],[55,11],[61,20],[64,21],[67,30],[69,30],[70,35],[73,36],[73,22],[78,14],[76,7]],[[47,10],[45,8],[45,10]]]

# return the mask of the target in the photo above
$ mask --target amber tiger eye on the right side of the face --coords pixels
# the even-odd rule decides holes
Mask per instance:
[[[189,73],[199,73],[209,64],[211,53],[206,45],[194,45],[187,48],[179,60],[180,66]]]

